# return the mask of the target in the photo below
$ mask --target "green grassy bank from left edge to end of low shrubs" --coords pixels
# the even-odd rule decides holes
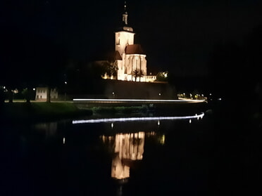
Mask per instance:
[[[79,107],[74,103],[4,103],[0,107],[1,120],[4,121],[49,121],[80,116],[104,114],[131,114],[146,112],[147,107]]]

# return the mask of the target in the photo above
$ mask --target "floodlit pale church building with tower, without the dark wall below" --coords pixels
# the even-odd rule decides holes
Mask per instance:
[[[123,26],[115,32],[115,52],[113,60],[117,66],[118,80],[123,81],[154,81],[155,75],[147,75],[146,54],[140,44],[134,44],[135,32],[127,23],[127,8],[122,15]],[[105,79],[108,76],[105,75]],[[109,77],[110,78],[110,77]],[[111,77],[112,79],[113,77]]]

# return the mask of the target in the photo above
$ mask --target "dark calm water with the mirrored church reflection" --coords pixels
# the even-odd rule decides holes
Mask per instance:
[[[239,164],[252,159],[249,149],[239,150],[225,131],[230,141],[221,141],[212,116],[85,120],[2,126],[0,195],[237,195],[251,188],[253,165]]]

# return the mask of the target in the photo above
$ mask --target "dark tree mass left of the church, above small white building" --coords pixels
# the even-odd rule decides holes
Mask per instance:
[[[2,31],[1,37],[0,86],[20,92],[49,86],[61,93],[100,93],[101,66],[72,58],[56,40],[14,29]]]

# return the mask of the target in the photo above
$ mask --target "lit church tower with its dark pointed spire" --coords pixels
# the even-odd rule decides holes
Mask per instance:
[[[125,47],[127,45],[132,45],[134,44],[134,35],[135,33],[133,32],[132,27],[127,26],[127,6],[126,6],[126,1],[125,1],[125,7],[124,7],[124,13],[123,13],[123,27],[120,27],[116,32],[115,32],[115,48],[116,51],[120,53],[120,56],[123,57],[123,53],[125,53]]]

